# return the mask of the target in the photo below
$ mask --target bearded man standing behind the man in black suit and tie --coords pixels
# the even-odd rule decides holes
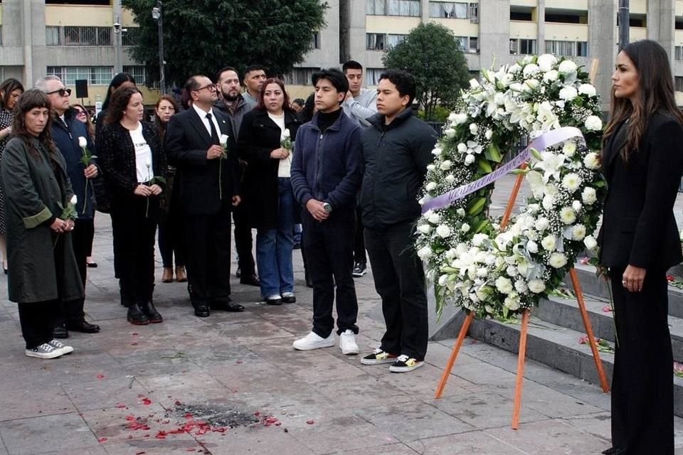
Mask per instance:
[[[218,100],[213,105],[218,111],[226,114],[233,124],[233,135],[235,144],[238,140],[240,125],[244,114],[252,109],[240,93],[240,77],[237,70],[226,66],[216,73],[216,86],[218,87]],[[240,180],[244,176],[244,169],[247,164],[240,160]],[[247,219],[247,208],[245,203],[240,203],[233,209],[233,220],[235,222],[235,249],[238,255],[237,277],[241,284],[259,286],[260,282],[255,272],[254,257],[252,254],[253,237]]]

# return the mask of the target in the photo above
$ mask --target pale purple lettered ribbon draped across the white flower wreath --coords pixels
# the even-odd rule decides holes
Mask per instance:
[[[573,137],[583,137],[581,130],[575,127],[562,127],[541,134],[541,136],[531,141],[531,144],[529,144],[529,146],[527,146],[519,155],[515,156],[512,161],[500,166],[492,173],[483,176],[479,180],[458,186],[455,190],[448,191],[448,193],[443,193],[441,196],[426,201],[422,206],[422,213],[425,213],[427,210],[448,207],[448,205],[451,205],[456,200],[462,199],[468,194],[474,193],[490,183],[497,181],[499,178],[509,173],[509,171],[518,168],[524,161],[529,159],[529,156],[531,156],[531,149],[544,150]]]

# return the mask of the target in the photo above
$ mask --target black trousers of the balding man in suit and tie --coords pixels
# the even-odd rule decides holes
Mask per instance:
[[[230,298],[230,202],[213,215],[185,215],[187,281],[193,306]]]

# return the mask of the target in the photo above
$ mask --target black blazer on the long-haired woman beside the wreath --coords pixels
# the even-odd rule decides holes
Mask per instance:
[[[683,173],[683,127],[657,112],[628,163],[620,154],[627,130],[622,124],[602,154],[608,193],[598,235],[600,263],[668,269],[683,260],[673,213]]]

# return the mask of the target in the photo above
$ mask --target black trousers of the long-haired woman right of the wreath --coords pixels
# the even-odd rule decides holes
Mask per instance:
[[[665,271],[647,270],[640,292],[610,271],[618,343],[612,376],[612,445],[628,455],[674,454],[674,390]]]

